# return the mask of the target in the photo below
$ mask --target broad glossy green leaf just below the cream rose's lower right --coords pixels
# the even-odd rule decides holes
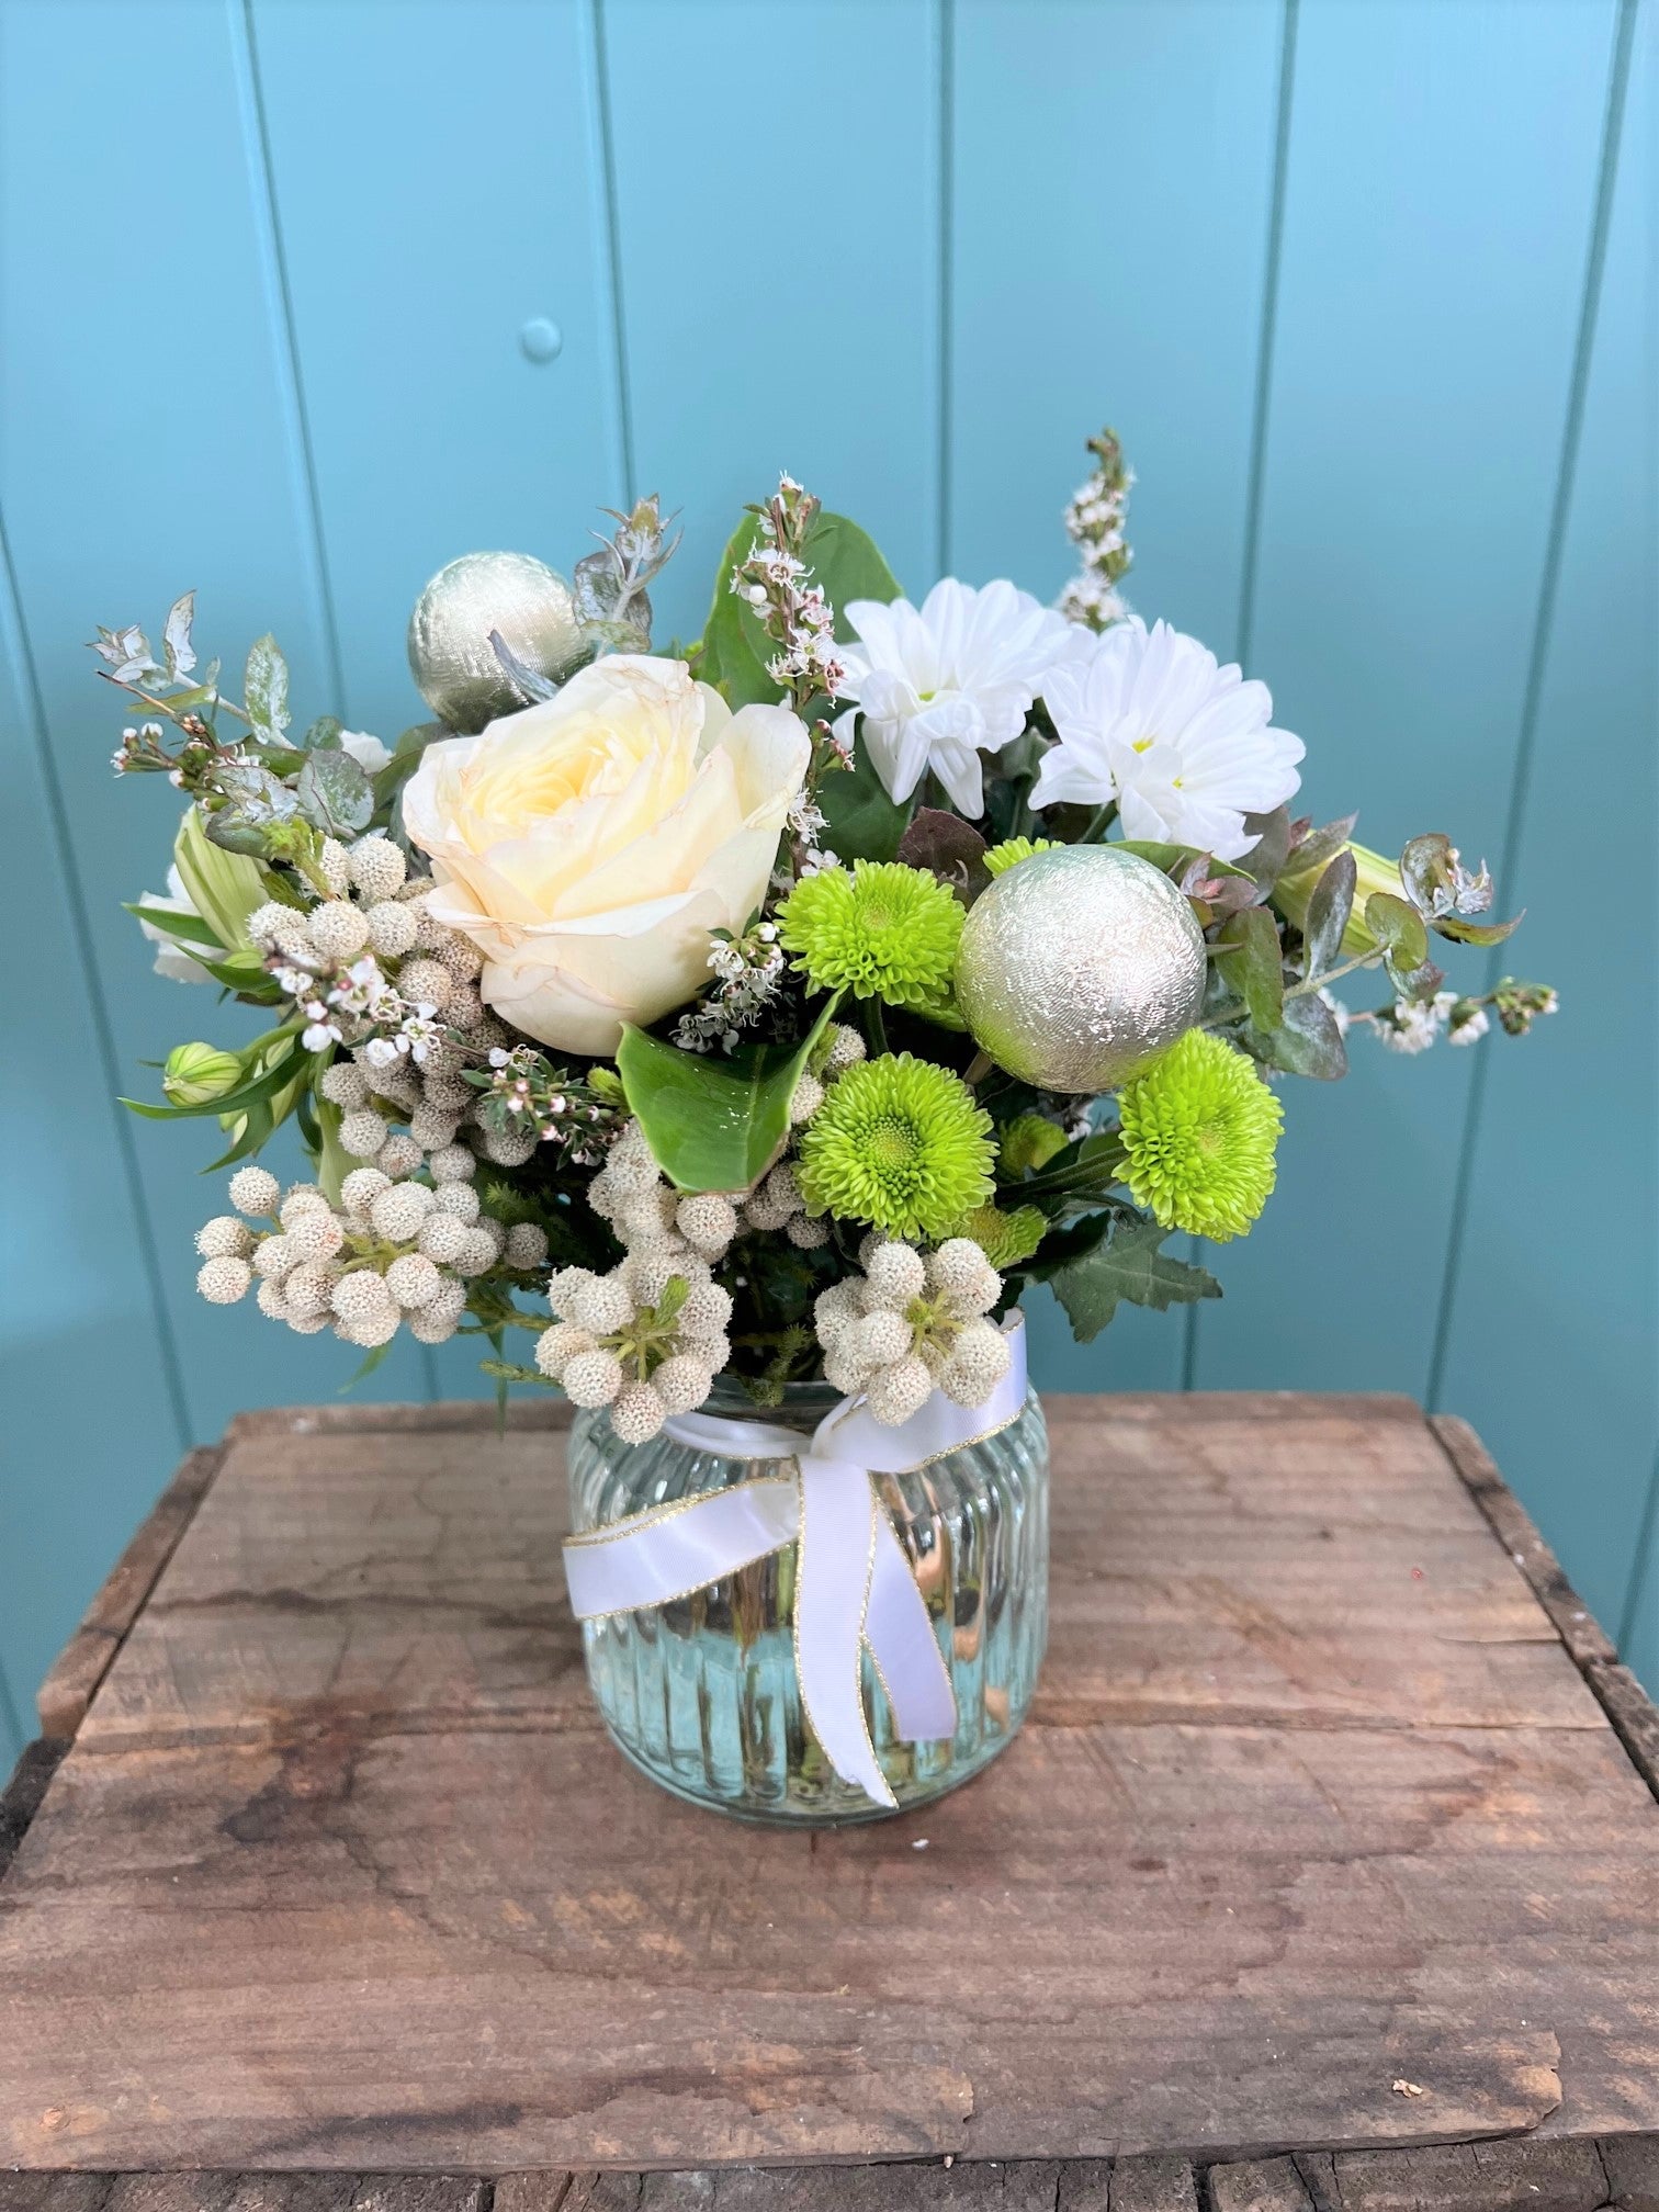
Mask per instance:
[[[838,998],[796,1046],[750,1044],[730,1057],[684,1053],[624,1029],[617,1071],[657,1166],[677,1190],[752,1190],[790,1135],[790,1099]]]

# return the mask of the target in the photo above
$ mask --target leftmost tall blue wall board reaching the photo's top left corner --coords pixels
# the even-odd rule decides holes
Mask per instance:
[[[199,1031],[252,1035],[257,1018],[217,1013],[212,991],[153,978],[137,927],[119,911],[122,896],[159,887],[179,801],[159,779],[111,776],[111,743],[128,717],[95,681],[84,639],[100,619],[155,628],[170,597],[199,584],[208,648],[232,659],[274,626],[305,703],[325,666],[323,608],[305,555],[305,484],[232,18],[201,0],[144,11],[142,44],[166,55],[168,113],[188,117],[188,128],[139,128],[128,77],[97,60],[133,51],[131,7],[7,0],[0,27],[0,509],[86,898],[88,982],[108,1006],[122,1082],[142,1088],[155,1084],[142,1060]],[[102,1095],[102,1071],[82,1079]],[[325,1396],[356,1365],[341,1345],[274,1336],[250,1305],[221,1312],[195,1298],[190,1234],[223,1203],[223,1186],[197,1175],[210,1139],[192,1124],[146,1128],[137,1148],[157,1225],[159,1321],[177,1347],[195,1436],[219,1433],[241,1405]],[[80,1172],[73,1152],[64,1166]],[[113,1210],[104,1234],[113,1250],[102,1265],[119,1283],[133,1214]],[[376,1378],[392,1396],[411,1387],[420,1369],[407,1356]],[[82,1495],[111,1504],[77,1513],[58,1493],[40,1531],[42,1544],[62,1544],[77,1562],[66,1571],[75,1597],[93,1555],[111,1557],[177,1453],[170,1427],[155,1431],[135,1416],[144,1391],[111,1385],[100,1398],[104,1429],[86,1447]],[[27,1582],[18,1604],[35,1652],[73,1624],[66,1593],[40,1582]],[[18,1683],[18,1694],[31,1688]]]

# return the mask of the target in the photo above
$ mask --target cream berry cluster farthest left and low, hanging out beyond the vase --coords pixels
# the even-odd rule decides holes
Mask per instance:
[[[465,1146],[451,1146],[431,1161],[431,1183],[354,1168],[338,1210],[316,1183],[283,1192],[268,1168],[239,1168],[230,1177],[237,1212],[197,1230],[197,1290],[212,1305],[234,1305],[259,1283],[259,1312],[301,1336],[332,1323],[345,1343],[374,1347],[407,1321],[422,1345],[440,1345],[460,1327],[469,1281],[546,1263],[544,1230],[507,1228],[480,1210],[476,1166]]]

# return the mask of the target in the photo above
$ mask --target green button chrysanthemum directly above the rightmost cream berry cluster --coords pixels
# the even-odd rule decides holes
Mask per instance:
[[[796,1181],[814,1214],[889,1237],[949,1237],[991,1197],[991,1117],[949,1068],[909,1053],[865,1060],[801,1130]]]

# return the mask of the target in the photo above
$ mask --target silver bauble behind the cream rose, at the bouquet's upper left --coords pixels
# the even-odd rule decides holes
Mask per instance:
[[[591,646],[571,586],[529,553],[462,553],[427,584],[409,615],[409,672],[438,721],[471,734],[524,699],[495,659],[500,630],[538,677],[564,684]]]

